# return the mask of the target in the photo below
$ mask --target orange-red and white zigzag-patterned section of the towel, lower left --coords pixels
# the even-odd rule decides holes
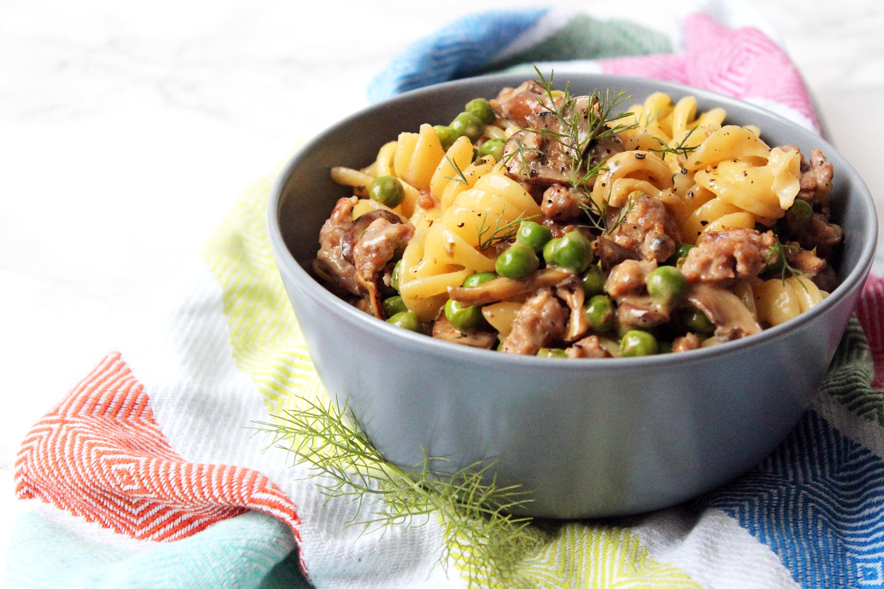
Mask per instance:
[[[27,434],[15,483],[19,499],[42,499],[136,539],[179,540],[260,510],[286,522],[301,545],[295,505],[267,477],[189,463],[171,449],[118,353]]]

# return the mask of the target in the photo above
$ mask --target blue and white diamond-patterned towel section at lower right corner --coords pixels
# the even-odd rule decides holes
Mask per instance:
[[[808,589],[884,588],[884,460],[816,412],[700,505],[735,517]]]

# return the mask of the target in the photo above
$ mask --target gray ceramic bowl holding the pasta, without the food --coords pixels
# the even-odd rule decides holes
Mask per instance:
[[[845,230],[841,285],[810,312],[743,340],[682,354],[556,360],[448,344],[394,328],[325,290],[306,268],[319,228],[347,190],[333,165],[359,168],[403,130],[451,120],[476,96],[522,77],[495,75],[427,87],[348,117],[288,162],[268,210],[273,253],[326,389],[347,400],[393,463],[420,462],[422,448],[458,469],[493,461],[499,481],[532,492],[541,517],[614,516],[699,495],[749,469],[795,426],[826,374],[877,236],[862,179],[826,141],[732,98],[649,79],[560,73],[576,94],[625,87],[758,125],[770,145],[819,147],[834,163],[832,203]],[[637,101],[636,101],[637,102]]]

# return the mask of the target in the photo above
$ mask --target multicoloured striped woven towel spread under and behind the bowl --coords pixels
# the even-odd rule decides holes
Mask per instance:
[[[732,94],[815,127],[781,49],[728,26],[743,12],[719,5],[714,16],[665,34],[583,14],[485,13],[409,48],[370,95],[555,58]],[[488,60],[489,47],[504,49]],[[242,195],[162,316],[147,313],[27,435],[16,493],[30,510],[6,586],[297,587],[306,576],[317,587],[462,587],[482,564],[440,566],[449,540],[432,517],[363,534],[348,522],[365,512],[326,501],[306,467],[251,428],[295,395],[322,394],[271,258],[271,179]],[[884,587],[884,395],[873,389],[884,280],[866,284],[857,317],[811,411],[762,464],[672,509],[546,522],[518,584]]]

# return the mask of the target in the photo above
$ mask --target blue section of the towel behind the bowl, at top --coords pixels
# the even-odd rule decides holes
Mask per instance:
[[[369,85],[369,101],[463,78],[490,64],[492,57],[537,23],[544,10],[488,11],[455,20],[412,43]]]

